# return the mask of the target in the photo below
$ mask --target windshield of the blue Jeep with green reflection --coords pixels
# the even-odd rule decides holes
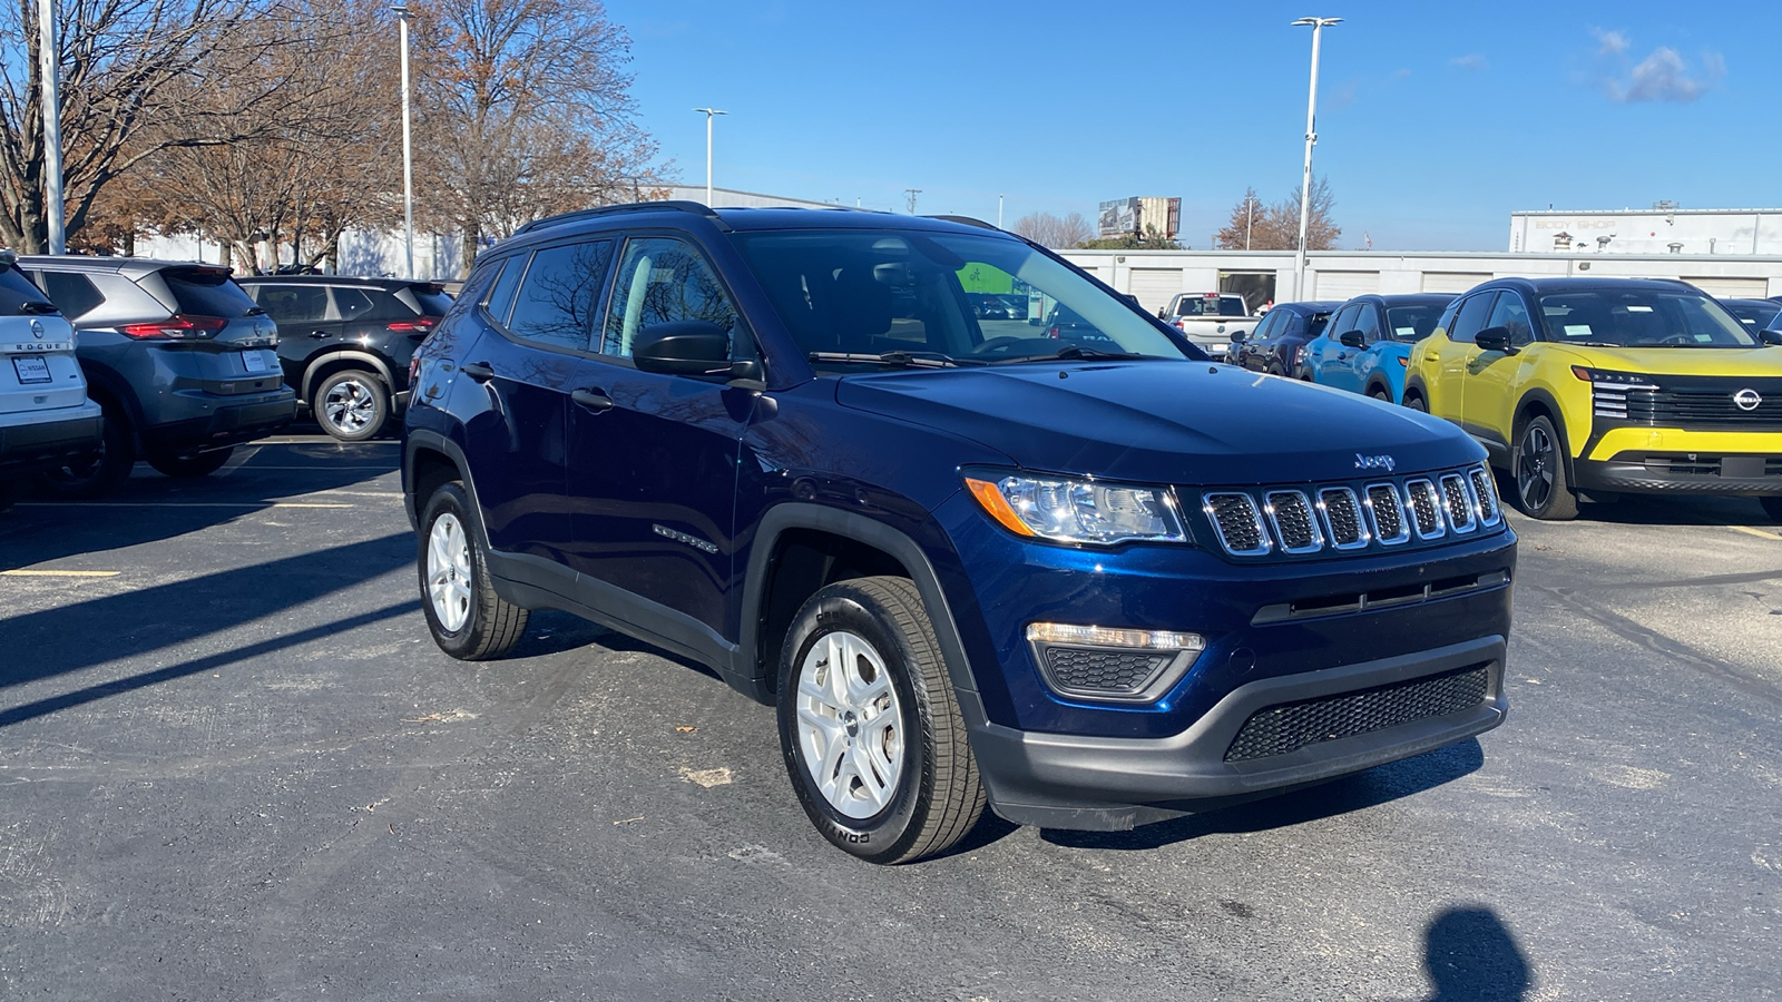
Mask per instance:
[[[1076,271],[1003,239],[895,230],[736,234],[786,328],[818,365],[879,355],[960,364],[1119,353],[1187,358],[1153,321]],[[985,301],[1032,308],[984,308]]]

